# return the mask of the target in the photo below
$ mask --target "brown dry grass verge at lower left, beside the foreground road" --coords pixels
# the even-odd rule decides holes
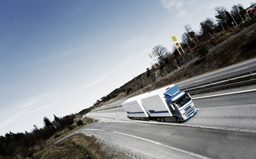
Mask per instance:
[[[74,132],[82,127],[94,123],[95,121],[90,118],[84,118],[82,120],[84,125],[78,127],[74,125],[74,129],[69,131],[66,129],[64,132],[59,132],[58,137],[49,138],[42,145],[37,145],[34,150],[33,158],[36,159],[52,159],[52,158],[131,158],[127,154],[120,152],[119,150],[105,144],[101,140],[86,136],[85,134],[75,134],[58,144],[54,144],[56,140]],[[30,159],[30,158],[27,158]]]

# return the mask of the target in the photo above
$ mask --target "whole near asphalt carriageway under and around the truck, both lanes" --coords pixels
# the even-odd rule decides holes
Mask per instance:
[[[255,158],[255,97],[255,90],[192,96],[199,111],[182,124],[129,121],[122,108],[99,111],[88,117],[103,117],[103,121],[80,132],[95,134],[143,158]]]

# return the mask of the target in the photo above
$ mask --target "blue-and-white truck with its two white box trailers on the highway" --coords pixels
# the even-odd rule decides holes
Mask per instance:
[[[177,85],[131,97],[121,105],[129,119],[145,121],[169,121],[174,117],[182,123],[198,112],[190,95]]]

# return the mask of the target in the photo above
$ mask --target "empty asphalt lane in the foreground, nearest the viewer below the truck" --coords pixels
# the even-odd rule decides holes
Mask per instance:
[[[80,131],[143,158],[254,158],[256,133],[111,121]]]

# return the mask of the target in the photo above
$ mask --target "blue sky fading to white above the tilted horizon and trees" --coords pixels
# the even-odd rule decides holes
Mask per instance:
[[[0,135],[63,117],[151,67],[189,24],[214,18],[214,7],[253,1],[0,1]]]

